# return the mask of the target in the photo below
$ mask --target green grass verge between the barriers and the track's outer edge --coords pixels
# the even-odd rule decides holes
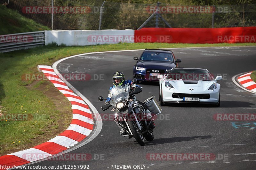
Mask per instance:
[[[118,43],[83,47],[65,47],[48,45],[27,50],[0,53],[0,113],[46,115],[44,120],[30,119],[28,121],[0,121],[0,154],[11,149],[26,148],[33,140],[56,129],[59,120],[68,115],[60,115],[54,102],[47,98],[44,92],[37,88],[45,83],[21,80],[24,74],[38,74],[37,65],[52,65],[53,62],[71,55],[127,49],[144,48],[180,48],[207,46],[249,46],[253,43],[237,44],[168,44],[168,43]],[[29,85],[33,84],[31,88]],[[54,88],[52,84],[47,88]],[[40,100],[40,102],[39,102]],[[68,106],[70,107],[70,106]],[[26,112],[25,112],[26,111]],[[71,120],[71,119],[69,119]],[[33,124],[34,123],[34,124]],[[18,141],[21,141],[18,143]],[[12,142],[15,142],[12,144]],[[43,143],[44,141],[41,141]]]

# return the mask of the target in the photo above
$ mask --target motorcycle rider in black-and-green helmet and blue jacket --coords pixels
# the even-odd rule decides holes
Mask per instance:
[[[125,80],[124,77],[124,73],[121,71],[117,71],[115,74],[113,74],[112,77],[112,81],[113,81],[113,86],[111,86],[109,88],[109,90],[111,90],[113,87],[117,86],[117,85],[122,85],[123,89],[125,89],[126,92],[130,92],[130,88],[133,90],[135,87],[139,87],[139,85],[134,84],[131,80]],[[108,92],[108,98],[106,100],[106,104],[109,104],[111,98],[110,98],[110,94]],[[145,109],[145,113],[148,113],[151,115],[150,111],[148,110],[147,106],[145,104],[143,104],[142,102],[140,102],[139,100],[137,100],[137,102],[142,105]],[[148,122],[150,122],[150,120],[147,119]],[[150,129],[154,129],[156,127],[155,123],[152,120],[152,123],[149,125]],[[125,131],[123,131],[123,134],[125,133]]]

